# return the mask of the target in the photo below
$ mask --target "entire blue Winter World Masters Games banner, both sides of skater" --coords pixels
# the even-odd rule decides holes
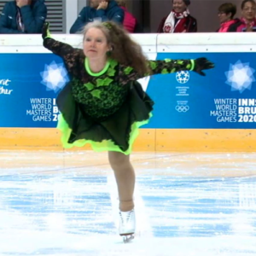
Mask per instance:
[[[160,53],[158,60],[207,57],[205,77],[179,72],[151,77],[155,102],[145,128],[256,128],[255,53]],[[0,54],[0,127],[55,127],[55,97],[67,84],[61,58],[52,54]],[[3,65],[4,63],[4,65]]]

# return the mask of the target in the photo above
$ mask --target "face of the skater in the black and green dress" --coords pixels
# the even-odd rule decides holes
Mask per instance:
[[[106,58],[110,50],[108,40],[101,29],[91,27],[84,35],[84,55],[89,59]]]

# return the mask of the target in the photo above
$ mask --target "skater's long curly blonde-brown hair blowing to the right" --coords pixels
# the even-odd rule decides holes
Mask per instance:
[[[90,28],[98,28],[104,33],[112,49],[108,53],[111,59],[118,61],[119,64],[133,67],[141,75],[150,73],[148,60],[143,55],[141,45],[133,41],[125,29],[112,21],[94,21],[84,26],[84,37]]]

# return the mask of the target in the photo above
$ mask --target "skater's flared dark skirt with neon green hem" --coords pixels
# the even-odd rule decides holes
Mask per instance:
[[[86,113],[83,104],[73,99],[71,84],[57,97],[60,110],[57,128],[61,130],[64,148],[90,144],[96,152],[116,151],[131,154],[139,127],[148,124],[154,102],[143,91],[141,84],[129,85],[124,103],[105,119],[94,119]]]

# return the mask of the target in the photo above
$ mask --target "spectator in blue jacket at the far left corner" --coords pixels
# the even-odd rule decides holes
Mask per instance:
[[[42,33],[46,15],[44,0],[15,0],[5,3],[0,15],[0,33]]]

